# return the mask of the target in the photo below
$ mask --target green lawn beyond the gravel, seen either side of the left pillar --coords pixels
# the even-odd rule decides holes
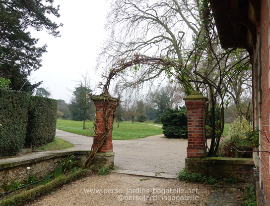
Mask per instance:
[[[113,140],[132,140],[132,139],[162,134],[162,129],[160,127],[156,127],[156,126],[152,126],[148,124],[152,124],[152,122],[145,122],[145,124],[138,123],[138,122],[135,122],[135,123],[120,122],[119,127],[117,127],[117,122],[115,122],[114,127],[113,127],[112,138]],[[155,125],[161,125],[161,124],[155,124]],[[83,126],[82,121],[58,119],[56,128],[67,131],[67,132],[79,134],[79,135],[90,136],[90,131],[83,130],[82,126]],[[91,129],[92,126],[93,126],[93,121],[85,122],[85,127]]]

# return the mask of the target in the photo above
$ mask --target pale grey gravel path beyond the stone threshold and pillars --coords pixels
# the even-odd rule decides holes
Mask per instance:
[[[156,125],[155,125],[156,126]],[[93,138],[56,130],[56,137],[75,147],[70,150],[90,150]],[[113,140],[115,165],[122,170],[166,172],[177,175],[185,167],[187,140],[165,139],[156,135],[135,140]]]

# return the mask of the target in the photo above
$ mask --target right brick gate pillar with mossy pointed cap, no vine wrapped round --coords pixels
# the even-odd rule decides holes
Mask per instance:
[[[188,147],[187,158],[206,156],[204,111],[207,98],[198,91],[183,98],[188,109]]]

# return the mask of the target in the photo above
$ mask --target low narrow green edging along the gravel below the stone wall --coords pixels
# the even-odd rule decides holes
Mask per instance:
[[[9,197],[8,199],[4,199],[0,202],[0,206],[19,206],[25,203],[28,203],[36,198],[51,193],[56,188],[62,187],[63,185],[75,181],[79,178],[92,174],[90,170],[87,169],[79,169],[75,172],[68,173],[65,176],[61,176],[47,183],[46,185],[40,185],[31,190],[27,190],[23,193],[16,194],[14,196]]]

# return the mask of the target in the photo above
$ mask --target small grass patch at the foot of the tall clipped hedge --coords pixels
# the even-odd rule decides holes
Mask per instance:
[[[73,145],[67,140],[60,139],[58,137],[55,140],[47,145],[43,145],[39,148],[33,148],[34,151],[56,151],[56,150],[65,150],[72,148]]]

